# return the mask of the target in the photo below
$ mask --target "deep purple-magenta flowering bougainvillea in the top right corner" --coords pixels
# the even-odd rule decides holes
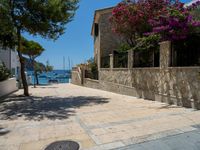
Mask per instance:
[[[162,40],[186,39],[200,27],[200,20],[194,19],[191,13],[199,4],[200,2],[197,2],[190,7],[185,7],[183,3],[176,1],[167,6],[162,15],[149,20],[153,26],[151,34],[161,35]]]

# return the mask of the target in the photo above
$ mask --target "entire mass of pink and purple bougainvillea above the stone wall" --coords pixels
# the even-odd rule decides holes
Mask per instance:
[[[184,39],[192,28],[200,27],[200,22],[190,13],[199,4],[184,7],[178,0],[126,1],[113,9],[110,21],[113,31],[122,35],[131,46],[138,37],[149,34],[159,34],[163,40]]]

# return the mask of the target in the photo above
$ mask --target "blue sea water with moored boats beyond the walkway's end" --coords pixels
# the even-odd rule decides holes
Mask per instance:
[[[27,75],[31,77],[31,84],[36,82],[33,71],[27,71]],[[71,71],[69,70],[53,70],[51,72],[43,72],[38,75],[40,85],[48,85],[49,80],[56,80],[58,83],[69,83]]]

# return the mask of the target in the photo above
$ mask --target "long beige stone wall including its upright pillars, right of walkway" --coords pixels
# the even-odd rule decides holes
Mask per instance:
[[[101,26],[106,26],[106,24]],[[110,44],[106,40],[105,43]],[[101,43],[101,46],[105,45]],[[84,80],[85,76],[82,74],[82,85],[200,109],[200,67],[170,67],[170,57],[171,43],[169,41],[160,43],[160,67],[157,68],[133,68],[132,50],[128,52],[128,68],[113,68],[111,54],[110,68],[98,68],[99,81]],[[74,73],[74,76],[77,75]]]

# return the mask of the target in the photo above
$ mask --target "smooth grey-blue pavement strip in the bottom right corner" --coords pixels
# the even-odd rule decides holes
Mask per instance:
[[[199,150],[200,130],[167,136],[149,142],[117,148],[117,150]]]

